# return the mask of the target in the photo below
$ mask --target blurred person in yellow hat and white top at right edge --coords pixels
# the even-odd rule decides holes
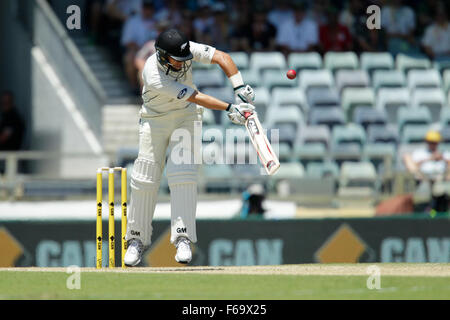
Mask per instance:
[[[407,170],[414,175],[418,188],[431,193],[428,209],[442,212],[448,210],[448,197],[442,181],[450,180],[450,153],[438,150],[440,141],[440,133],[430,130],[425,136],[427,147],[405,154],[403,161]]]

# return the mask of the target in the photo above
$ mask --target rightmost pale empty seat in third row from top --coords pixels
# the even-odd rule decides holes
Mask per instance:
[[[444,93],[440,88],[415,89],[412,92],[411,103],[413,107],[424,106],[428,108],[432,122],[439,121],[441,109],[447,104]]]

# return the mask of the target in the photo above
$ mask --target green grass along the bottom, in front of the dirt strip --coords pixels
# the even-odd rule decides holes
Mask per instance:
[[[405,266],[405,270],[408,266]],[[450,264],[443,265],[444,271]],[[71,274],[0,269],[0,299],[450,299],[450,277],[383,275],[381,289],[368,289],[368,275],[222,274],[200,272],[87,272],[80,289]],[[45,269],[49,270],[49,269]],[[92,270],[91,270],[92,271]]]

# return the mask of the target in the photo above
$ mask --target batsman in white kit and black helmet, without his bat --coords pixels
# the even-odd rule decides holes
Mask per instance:
[[[161,175],[166,163],[170,189],[171,237],[177,248],[175,260],[189,263],[190,243],[197,242],[195,212],[197,207],[198,164],[193,161],[194,126],[202,120],[203,108],[228,112],[229,119],[245,124],[244,113],[254,113],[253,89],[245,85],[231,57],[214,47],[189,41],[180,31],[162,32],[155,42],[156,52],[145,62],[142,73],[143,105],[140,111],[139,154],[131,175],[131,199],[126,240],[125,264],[136,266],[152,236]],[[230,80],[235,102],[228,103],[199,92],[192,82],[192,61],[218,64]],[[171,141],[175,130],[190,133],[192,143]],[[190,146],[190,147],[189,147]],[[175,150],[175,149],[182,150]],[[187,152],[189,163],[176,163],[173,152]]]

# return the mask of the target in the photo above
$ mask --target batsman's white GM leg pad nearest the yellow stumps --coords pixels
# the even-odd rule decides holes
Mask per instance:
[[[127,219],[126,240],[137,238],[149,246],[152,220],[161,181],[161,166],[147,159],[134,162],[131,175],[131,198]]]

